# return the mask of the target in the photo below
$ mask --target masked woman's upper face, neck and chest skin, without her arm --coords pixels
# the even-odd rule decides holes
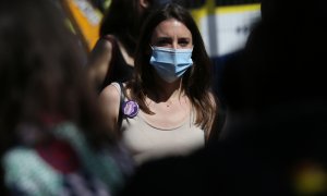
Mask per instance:
[[[152,46],[191,49],[192,34],[181,22],[170,19],[161,22],[154,30]],[[148,96],[149,109],[156,114],[145,114],[149,123],[158,127],[169,128],[180,125],[190,114],[189,98],[181,91],[181,78],[174,83],[167,83],[158,75],[159,97]]]

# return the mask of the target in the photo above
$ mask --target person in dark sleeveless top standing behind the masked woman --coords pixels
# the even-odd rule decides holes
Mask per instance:
[[[99,39],[88,57],[92,84],[101,91],[111,82],[131,78],[140,28],[158,0],[111,0],[99,32]]]

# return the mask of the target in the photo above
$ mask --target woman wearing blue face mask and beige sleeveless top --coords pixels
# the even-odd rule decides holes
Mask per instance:
[[[148,16],[136,48],[134,77],[112,83],[99,97],[108,124],[121,134],[136,163],[184,156],[217,136],[211,132],[218,101],[210,69],[186,9],[167,3]]]

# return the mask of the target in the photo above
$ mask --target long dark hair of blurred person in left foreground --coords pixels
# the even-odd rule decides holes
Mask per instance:
[[[76,123],[92,144],[110,140],[83,68],[83,51],[49,0],[0,2],[0,144],[17,143],[20,123]]]

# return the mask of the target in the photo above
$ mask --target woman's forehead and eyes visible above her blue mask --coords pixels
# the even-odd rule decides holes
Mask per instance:
[[[190,49],[193,47],[190,29],[175,19],[159,23],[150,39],[150,45],[156,47]]]

